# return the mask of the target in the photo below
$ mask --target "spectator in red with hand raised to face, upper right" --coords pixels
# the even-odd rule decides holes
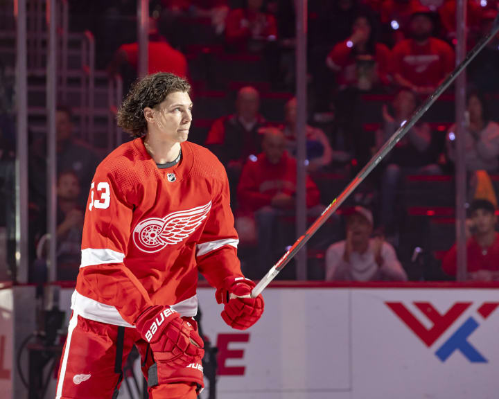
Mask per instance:
[[[387,46],[376,42],[373,21],[368,14],[360,14],[353,21],[351,36],[333,47],[326,64],[336,73],[340,90],[357,87],[368,91],[389,85],[389,58]]]

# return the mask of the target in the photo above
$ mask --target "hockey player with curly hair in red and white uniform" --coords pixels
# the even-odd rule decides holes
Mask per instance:
[[[263,312],[240,271],[222,164],[189,143],[190,86],[171,73],[139,80],[118,124],[136,138],[96,170],[87,202],[56,398],[116,398],[136,345],[150,398],[195,398],[203,342],[192,319],[201,272],[222,318],[245,329]]]

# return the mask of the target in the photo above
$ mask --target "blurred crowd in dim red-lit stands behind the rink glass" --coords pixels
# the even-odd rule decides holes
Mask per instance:
[[[94,170],[128,140],[114,113],[137,78],[139,45],[136,0],[62,3],[68,35],[56,112],[57,279],[74,281]],[[1,21],[14,32],[10,10]],[[177,73],[193,85],[189,140],[227,169],[249,278],[261,278],[296,238],[294,10],[293,0],[150,1],[148,71]],[[309,222],[454,69],[455,12],[455,0],[308,1]],[[468,48],[497,12],[496,0],[467,1]],[[28,32],[31,26],[28,20]],[[15,262],[15,57],[10,36],[2,37],[0,280],[12,277],[7,265]],[[85,51],[78,40],[89,43]],[[40,282],[48,242],[44,76],[36,73],[36,46],[29,48],[29,280]],[[467,69],[467,87],[468,278],[491,281],[499,279],[499,37]],[[449,90],[310,241],[309,279],[455,278],[454,121]],[[279,275],[295,277],[293,264]]]

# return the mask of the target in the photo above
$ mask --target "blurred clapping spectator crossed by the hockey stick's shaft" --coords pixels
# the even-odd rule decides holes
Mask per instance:
[[[394,132],[407,121],[417,107],[418,98],[410,89],[401,89],[392,102],[393,116],[387,105],[383,106],[383,130],[376,132],[376,146],[388,141]],[[431,151],[431,129],[428,123],[417,123],[385,158],[381,185],[381,222],[389,235],[396,233],[396,193],[405,175],[438,175],[441,173]]]

